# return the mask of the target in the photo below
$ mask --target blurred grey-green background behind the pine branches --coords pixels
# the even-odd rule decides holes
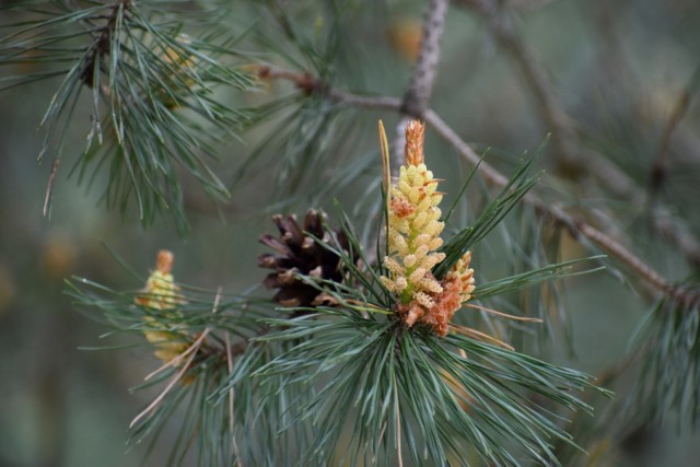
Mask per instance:
[[[512,3],[514,26],[547,70],[562,105],[583,129],[584,140],[615,161],[642,189],[649,186],[664,128],[682,93],[688,94],[687,112],[669,142],[669,170],[661,197],[700,234],[700,104],[692,79],[700,67],[700,4],[695,0]],[[346,57],[357,60],[337,63],[343,84],[401,95],[420,40],[422,9],[423,2],[417,1],[354,9],[349,17],[352,34],[343,49]],[[302,13],[308,15],[302,24],[313,27],[313,11],[300,9]],[[508,154],[537,148],[552,129],[541,118],[518,68],[478,14],[453,4],[445,31],[433,106],[477,148],[492,148],[494,163],[508,170],[512,166]],[[1,67],[0,78],[28,71]],[[105,245],[140,271],[152,268],[160,248],[168,248],[176,254],[179,281],[212,290],[244,290],[265,276],[254,265],[262,252],[257,237],[273,231],[266,180],[273,179],[275,167],[258,167],[238,180],[221,212],[185,177],[191,232],[178,235],[167,219],[144,230],[133,212],[122,217],[105,209],[100,199],[105,174],[90,189],[86,184],[79,186],[77,176],[69,176],[84,145],[85,106],[71,127],[66,147],[72,151],[58,173],[50,218],[45,218],[42,207],[50,163],[37,164],[43,138],[37,127],[57,85],[56,81],[42,82],[0,93],[0,466],[137,466],[143,447],[125,445],[127,427],[152,393],[131,394],[128,388],[158,362],[147,348],[80,350],[104,345],[100,336],[107,329],[74,310],[65,294],[65,280],[79,276],[135,290],[141,284]],[[290,91],[270,83],[262,95],[223,92],[221,98],[253,104]],[[396,116],[381,112],[361,116],[366,133],[355,141],[358,154],[376,149],[373,129],[377,118],[388,121],[389,128],[397,121]],[[266,138],[266,128],[248,131],[242,141],[221,148],[221,161],[214,166],[222,178],[236,174],[246,154]],[[430,135],[428,151],[454,156]],[[626,238],[634,236],[635,252],[670,279],[680,280],[691,272],[677,252],[645,235],[640,207],[629,209],[627,200],[578,186],[575,177],[558,173],[555,157],[549,151],[541,160],[542,167],[553,173],[545,184],[573,192],[565,202],[583,200],[615,213],[616,227]],[[452,170],[447,162],[438,167],[439,174],[440,167],[443,173]],[[378,170],[377,160],[374,175]],[[370,175],[374,176],[371,171]],[[453,191],[454,187],[458,185]],[[339,196],[352,202],[348,192]],[[284,209],[302,213],[302,205]],[[569,247],[569,256],[585,255],[575,245]],[[501,260],[497,253],[490,258]],[[556,338],[553,358],[597,374],[625,355],[631,334],[652,302],[633,283],[607,273],[568,281],[565,291],[574,352],[565,350],[563,338]],[[108,342],[118,343],[119,338]],[[669,423],[635,432],[615,455],[596,462],[693,466],[700,456],[698,446],[700,436],[679,434]],[[156,447],[149,465],[164,465],[166,458],[165,442]]]

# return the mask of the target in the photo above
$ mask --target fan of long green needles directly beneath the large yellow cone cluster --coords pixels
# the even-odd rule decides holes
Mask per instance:
[[[573,393],[594,388],[582,373],[458,335],[442,341],[427,329],[401,329],[371,313],[317,313],[276,320],[287,329],[262,339],[306,340],[258,372],[320,382],[299,409],[301,420],[317,427],[313,464],[394,464],[402,453],[416,465],[428,456],[446,464],[463,458],[467,445],[485,462],[516,465],[525,455],[550,464],[556,458],[549,440],[571,440],[528,395],[590,409]],[[349,441],[342,440],[346,430]]]

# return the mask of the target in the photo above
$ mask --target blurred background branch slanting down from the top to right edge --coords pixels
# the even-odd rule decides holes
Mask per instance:
[[[552,142],[560,156],[556,163],[567,173],[594,177],[606,190],[634,206],[649,206],[648,194],[617,164],[595,151],[580,148],[575,121],[567,114],[544,67],[515,33],[508,16],[500,11],[499,3],[494,0],[457,0],[456,3],[479,13],[491,26],[501,48],[520,67],[535,95],[542,119],[553,129]],[[700,242],[684,223],[672,220],[673,214],[663,206],[656,206],[651,213],[653,230],[675,244],[693,268],[700,269]]]

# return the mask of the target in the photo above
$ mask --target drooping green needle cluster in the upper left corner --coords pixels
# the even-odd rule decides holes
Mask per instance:
[[[0,39],[0,66],[31,69],[49,62],[54,68],[5,77],[3,90],[62,77],[42,119],[39,160],[50,153],[58,168],[67,131],[81,119],[81,108],[89,108],[85,150],[73,166],[79,179],[92,180],[105,167],[108,207],[126,212],[133,203],[144,224],[166,210],[184,231],[179,171],[225,199],[228,189],[208,160],[218,159],[221,137],[231,138],[253,118],[221,104],[214,89],[246,90],[255,79],[236,65],[245,56],[235,49],[235,36],[221,28],[198,38],[184,34],[172,12],[178,3],[84,1],[78,7],[55,0],[24,7],[27,21],[3,26],[10,33]],[[46,209],[51,182],[48,190]]]

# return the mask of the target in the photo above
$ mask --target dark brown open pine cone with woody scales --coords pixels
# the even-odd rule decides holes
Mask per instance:
[[[277,252],[258,257],[258,266],[275,270],[265,278],[262,284],[268,289],[278,289],[273,300],[283,306],[316,306],[323,303],[322,292],[301,281],[298,275],[342,281],[340,258],[313,238],[332,244],[330,234],[324,229],[322,215],[318,211],[310,210],[303,226],[300,226],[295,215],[276,214],[272,221],[279,229],[279,238],[268,234],[260,236],[260,243]],[[340,248],[349,252],[346,235],[336,231],[335,236]]]

